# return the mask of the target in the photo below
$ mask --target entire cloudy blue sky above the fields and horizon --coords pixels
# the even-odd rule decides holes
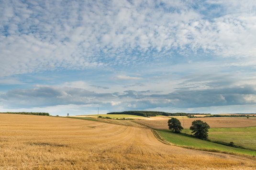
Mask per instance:
[[[0,112],[256,113],[255,0],[0,0]]]

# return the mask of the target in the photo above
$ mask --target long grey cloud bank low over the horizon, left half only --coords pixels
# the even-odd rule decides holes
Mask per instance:
[[[7,107],[28,108],[68,104],[98,104],[113,97],[108,93],[95,93],[78,88],[41,86],[29,90],[10,90],[1,94],[0,98],[0,101]]]

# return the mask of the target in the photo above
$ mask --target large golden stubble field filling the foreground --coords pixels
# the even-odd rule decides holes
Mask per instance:
[[[255,170],[255,162],[166,145],[146,128],[0,114],[1,170]]]

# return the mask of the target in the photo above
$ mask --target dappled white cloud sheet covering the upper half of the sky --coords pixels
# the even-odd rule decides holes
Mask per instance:
[[[143,65],[175,53],[253,57],[253,2],[2,1],[0,76]]]

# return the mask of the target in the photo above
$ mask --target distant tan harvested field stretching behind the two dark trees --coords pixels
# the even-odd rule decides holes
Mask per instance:
[[[176,117],[183,126],[182,117]],[[169,118],[171,119],[171,118]],[[192,121],[202,120],[209,124],[211,128],[244,128],[256,126],[256,119],[247,119],[247,118],[187,118],[184,117],[184,127],[189,129]],[[155,119],[155,120],[133,120],[138,123],[142,123],[146,126],[152,127],[154,129],[168,129],[168,119]]]

